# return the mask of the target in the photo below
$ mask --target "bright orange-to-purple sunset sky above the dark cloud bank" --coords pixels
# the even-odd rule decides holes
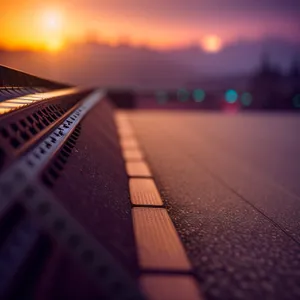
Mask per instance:
[[[87,38],[155,48],[240,39],[300,40],[299,0],[1,1],[0,47],[59,50]]]

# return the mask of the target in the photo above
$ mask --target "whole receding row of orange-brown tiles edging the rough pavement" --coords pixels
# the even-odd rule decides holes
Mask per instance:
[[[129,177],[141,288],[150,300],[202,299],[126,113],[117,113],[115,120]]]

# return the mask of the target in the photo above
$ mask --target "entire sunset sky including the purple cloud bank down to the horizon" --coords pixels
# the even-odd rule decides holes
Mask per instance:
[[[0,64],[79,85],[239,82],[300,54],[298,0],[1,2]]]

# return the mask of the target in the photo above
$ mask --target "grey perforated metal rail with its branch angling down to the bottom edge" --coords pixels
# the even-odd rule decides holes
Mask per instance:
[[[21,199],[21,204],[41,222],[43,229],[69,250],[108,299],[144,299],[127,272],[41,184],[39,177],[81,120],[104,96],[103,90],[89,94],[38,144],[2,172],[0,219]]]

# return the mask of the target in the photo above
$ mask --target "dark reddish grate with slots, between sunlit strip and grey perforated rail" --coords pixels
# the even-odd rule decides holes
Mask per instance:
[[[8,166],[20,154],[58,125],[63,117],[80,102],[90,90],[79,90],[63,96],[45,99],[0,115],[0,170]]]

